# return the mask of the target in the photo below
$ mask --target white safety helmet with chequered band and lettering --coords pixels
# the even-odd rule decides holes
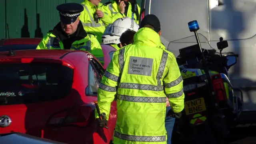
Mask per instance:
[[[101,38],[101,44],[120,44],[120,36],[128,29],[137,32],[139,25],[129,17],[118,18],[106,27]]]

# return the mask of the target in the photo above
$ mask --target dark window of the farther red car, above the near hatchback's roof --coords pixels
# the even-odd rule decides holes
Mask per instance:
[[[37,45],[35,44],[13,44],[11,45],[12,50],[34,50]],[[0,46],[0,52],[9,51],[10,45]]]

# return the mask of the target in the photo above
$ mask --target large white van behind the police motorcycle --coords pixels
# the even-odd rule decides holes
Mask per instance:
[[[178,50],[196,44],[188,22],[197,20],[202,48],[217,49],[223,37],[228,48],[223,52],[238,54],[230,69],[233,87],[244,93],[242,121],[256,120],[256,0],[142,0],[141,19],[147,14],[158,16],[161,41],[178,56]]]

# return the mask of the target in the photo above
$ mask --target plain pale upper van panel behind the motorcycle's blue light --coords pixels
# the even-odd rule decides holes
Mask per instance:
[[[159,18],[164,39],[170,42],[193,35],[188,29],[188,22],[192,20],[198,21],[199,32],[209,39],[207,0],[150,1],[150,14],[155,14]]]

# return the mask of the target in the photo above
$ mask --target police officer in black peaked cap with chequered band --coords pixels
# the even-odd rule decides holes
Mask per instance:
[[[36,49],[84,50],[93,54],[104,64],[100,43],[94,35],[87,34],[79,15],[83,6],[76,3],[60,4],[57,7],[60,22],[41,40]]]

